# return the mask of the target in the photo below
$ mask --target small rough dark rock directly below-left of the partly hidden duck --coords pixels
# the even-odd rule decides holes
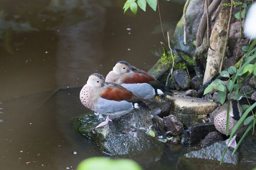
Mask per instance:
[[[202,148],[205,148],[207,146],[210,146],[210,145],[214,144],[215,142],[222,141],[222,140],[223,140],[223,137],[220,133],[210,132],[208,135],[206,135],[204,137],[203,140],[200,141],[199,145]]]

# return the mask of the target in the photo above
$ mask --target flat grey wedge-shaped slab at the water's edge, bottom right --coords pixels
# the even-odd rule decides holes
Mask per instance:
[[[199,151],[191,151],[189,153],[186,153],[184,156],[187,158],[200,158],[220,161],[225,148],[225,142],[216,142],[206,148],[200,149]],[[234,155],[232,155],[233,150],[234,149],[230,147],[227,149],[227,152],[223,160],[224,163],[238,163],[238,153],[236,152]]]

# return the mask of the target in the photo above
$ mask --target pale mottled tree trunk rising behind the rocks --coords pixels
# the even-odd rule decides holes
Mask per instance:
[[[227,1],[227,0],[225,0]],[[226,3],[226,2],[223,2]],[[221,6],[215,21],[210,38],[210,46],[215,50],[208,50],[207,64],[203,78],[203,84],[217,74],[220,68],[221,56],[225,46],[228,29],[229,7]]]

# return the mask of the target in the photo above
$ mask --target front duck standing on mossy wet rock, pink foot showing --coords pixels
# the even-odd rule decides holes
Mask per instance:
[[[134,109],[143,108],[150,111],[141,96],[138,96],[121,85],[106,83],[101,74],[91,74],[80,91],[81,103],[90,110],[107,115],[105,121],[96,128],[108,124],[112,118],[121,117]]]

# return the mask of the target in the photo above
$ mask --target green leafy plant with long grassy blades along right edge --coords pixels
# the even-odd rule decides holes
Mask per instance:
[[[256,48],[254,46],[256,45],[256,40],[253,41],[250,47],[243,47],[243,51],[246,52],[245,57],[243,59],[243,63],[240,66],[240,68],[236,68],[234,66],[231,66],[228,68],[228,70],[224,70],[220,73],[222,77],[229,78],[227,82],[223,82],[219,79],[216,79],[214,82],[212,82],[205,90],[204,94],[209,93],[213,88],[217,88],[218,90],[218,98],[221,104],[223,104],[226,100],[226,93],[227,90],[229,90],[230,94],[228,95],[228,114],[227,114],[227,123],[226,123],[226,129],[228,134],[228,126],[229,126],[229,109],[230,109],[230,101],[231,101],[231,94],[234,93],[234,100],[239,101],[242,97],[246,97],[246,93],[244,92],[240,93],[240,89],[244,82],[246,82],[252,75],[256,76]],[[256,79],[254,80],[256,83]],[[220,93],[220,94],[219,94]],[[256,123],[256,114],[253,113],[251,117],[248,117],[248,114],[256,107],[256,103],[253,105],[247,105],[244,104],[241,106],[243,110],[242,117],[238,120],[235,127],[232,129],[231,135],[229,137],[228,142],[231,141],[231,138],[236,134],[236,130],[239,128],[239,126],[243,123],[244,125],[248,125],[247,130],[244,132],[243,136],[237,143],[237,146],[233,153],[236,152],[237,148],[239,147],[240,143],[244,139],[244,137],[249,133],[251,129],[255,128]],[[227,146],[224,151],[223,157],[221,159],[221,162],[223,161],[224,155],[227,151]]]

